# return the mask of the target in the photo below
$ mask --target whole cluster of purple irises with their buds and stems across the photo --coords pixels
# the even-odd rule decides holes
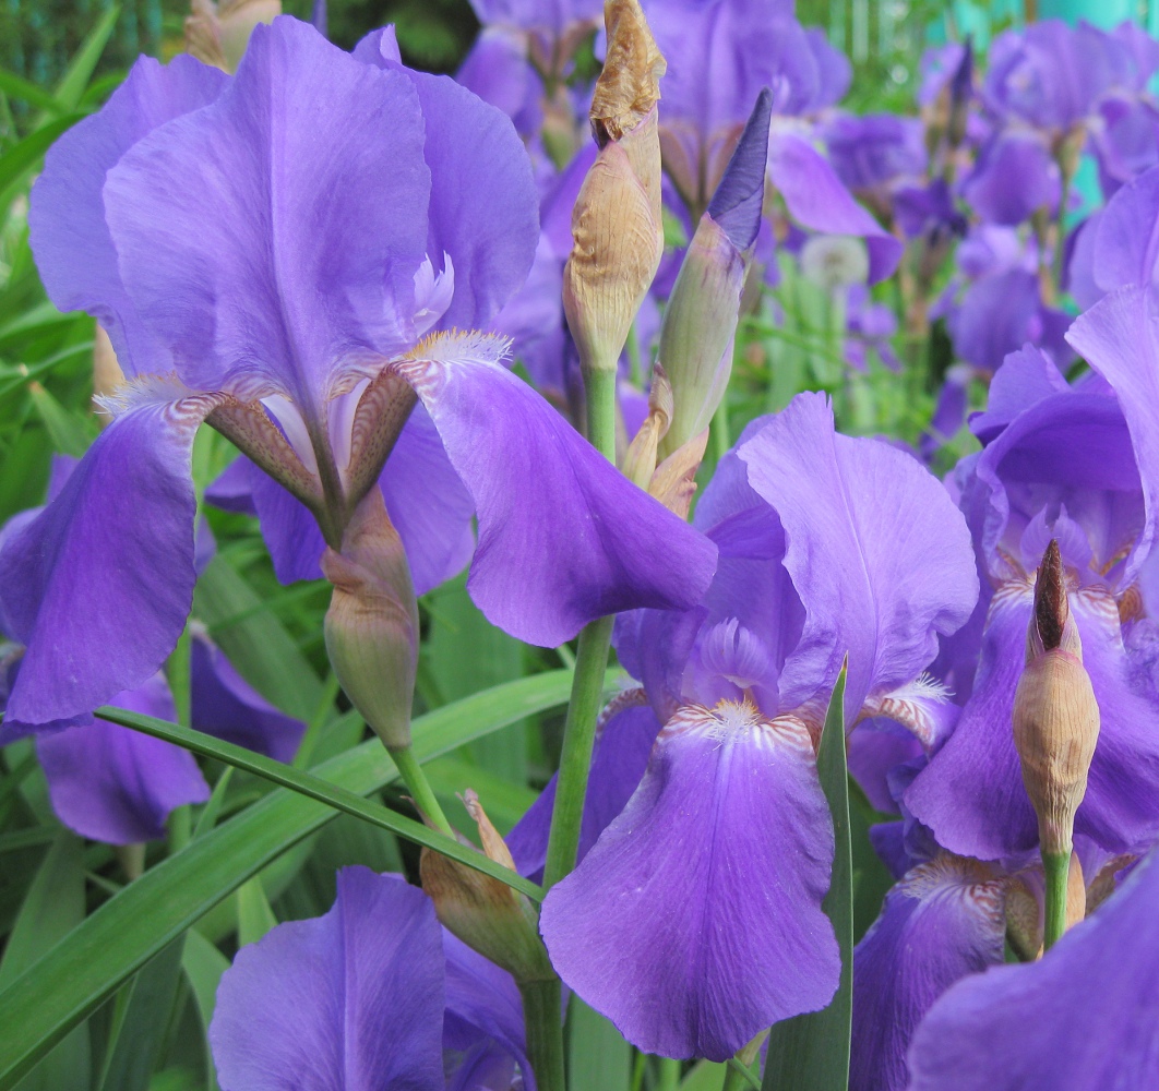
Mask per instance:
[[[981,75],[932,53],[920,119],[855,117],[790,6],[610,0],[593,86],[598,6],[478,7],[458,81],[289,16],[227,73],[203,15],[204,60],[140,59],[49,153],[38,269],[122,381],[0,533],[0,740],[81,835],[161,836],[203,770],[95,711],[176,720],[184,639],[192,727],[292,760],[305,725],[189,621],[207,425],[240,454],[204,499],[333,585],[334,672],[437,833],[421,885],[349,867],[238,952],[225,1091],[560,1089],[570,994],[726,1088],[812,1086],[843,1018],[859,1091],[1159,1082],[1159,45],[1034,24]],[[732,442],[786,271],[846,372]],[[933,419],[843,434],[898,321],[950,335]],[[440,854],[411,750],[416,599],[467,568],[508,634],[580,637],[535,804],[503,839],[461,785],[511,881]],[[896,880],[852,950],[846,767]]]

